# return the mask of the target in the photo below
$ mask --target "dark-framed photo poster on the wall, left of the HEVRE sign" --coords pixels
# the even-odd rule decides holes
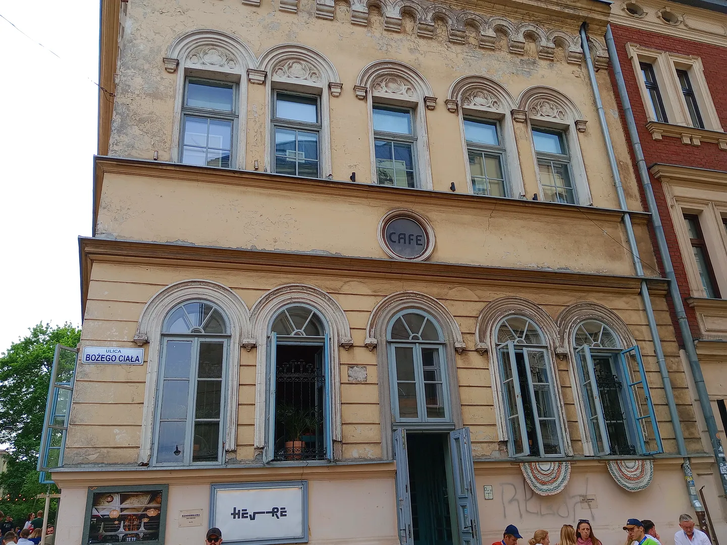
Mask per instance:
[[[169,485],[89,488],[81,543],[163,545],[168,495]]]

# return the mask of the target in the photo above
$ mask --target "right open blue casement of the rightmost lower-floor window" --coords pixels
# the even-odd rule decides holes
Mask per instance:
[[[638,346],[632,346],[620,352],[619,356],[624,373],[624,380],[627,384],[627,395],[631,405],[631,414],[636,421],[636,439],[640,449],[639,453],[656,454],[663,452],[662,436],[659,435],[659,426],[656,424],[654,401],[651,399],[651,393],[648,391],[646,371],[643,368],[641,351]],[[636,360],[637,369],[632,370],[630,368],[629,357]],[[633,380],[632,376],[634,377]],[[646,404],[646,408],[644,408],[642,403]],[[645,437],[648,440],[648,444],[646,443]]]

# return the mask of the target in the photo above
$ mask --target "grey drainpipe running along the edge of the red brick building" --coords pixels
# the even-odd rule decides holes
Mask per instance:
[[[712,442],[712,451],[714,452],[715,460],[717,460],[719,466],[722,488],[727,495],[727,462],[725,461],[722,442],[718,437],[717,422],[715,421],[715,415],[712,412],[712,405],[710,403],[709,395],[707,394],[707,387],[704,385],[702,367],[699,365],[699,359],[696,357],[694,338],[691,336],[691,329],[689,328],[689,323],[686,318],[686,312],[684,312],[684,303],[679,292],[676,276],[674,275],[674,267],[669,253],[669,246],[667,245],[667,238],[664,236],[664,226],[662,225],[662,219],[659,215],[659,209],[656,207],[654,189],[651,187],[651,179],[649,178],[648,169],[646,168],[646,159],[644,158],[643,150],[641,149],[641,141],[638,136],[638,129],[636,128],[636,121],[634,119],[633,110],[631,109],[629,95],[626,91],[626,82],[624,81],[624,74],[621,70],[621,62],[619,62],[619,56],[616,53],[616,44],[614,43],[614,35],[611,33],[611,25],[606,27],[606,46],[608,47],[608,58],[611,60],[611,66],[614,67],[616,85],[619,89],[619,97],[621,98],[621,105],[626,118],[626,126],[629,131],[629,136],[631,137],[639,178],[641,185],[643,186],[644,194],[646,195],[646,204],[648,206],[648,211],[651,212],[651,223],[654,227],[656,243],[659,246],[659,254],[661,254],[662,257],[662,267],[664,267],[664,273],[667,275],[667,279],[669,280],[669,293],[672,297],[672,304],[674,304],[674,311],[677,315],[679,331],[681,332],[682,339],[684,341],[684,350],[686,351],[687,359],[689,360],[689,368],[691,368],[691,374],[694,378],[696,393],[699,395],[699,405],[702,408],[704,421],[707,424],[707,432],[709,433],[710,441]],[[688,462],[688,460],[686,460],[686,462]],[[694,491],[694,496],[696,497],[696,491]],[[696,502],[699,503],[700,508],[703,510],[704,507],[702,507],[702,504],[698,499]],[[694,504],[694,501],[692,501],[692,503]],[[697,510],[699,511],[699,509]]]

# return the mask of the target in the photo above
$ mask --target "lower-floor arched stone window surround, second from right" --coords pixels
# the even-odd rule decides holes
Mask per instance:
[[[550,353],[550,370],[553,376],[553,389],[555,391],[555,408],[560,414],[561,428],[563,429],[563,448],[566,455],[573,454],[571,438],[568,431],[567,419],[563,405],[563,392],[558,379],[558,368],[553,355],[563,353],[558,347],[558,326],[550,315],[538,304],[523,297],[501,297],[489,302],[477,318],[475,326],[475,350],[481,355],[489,353],[490,380],[492,384],[492,397],[494,399],[495,414],[497,415],[497,436],[500,441],[509,437],[507,423],[505,422],[505,400],[502,396],[502,387],[499,379],[499,363],[497,361],[497,326],[507,316],[518,315],[529,318],[537,323],[545,336],[548,352]]]

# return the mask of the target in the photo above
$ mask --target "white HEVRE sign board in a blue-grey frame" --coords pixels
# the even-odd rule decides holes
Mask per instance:
[[[308,541],[308,483],[212,485],[212,520],[225,543]]]

